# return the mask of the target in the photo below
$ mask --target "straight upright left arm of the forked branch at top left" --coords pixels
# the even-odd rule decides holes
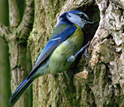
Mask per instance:
[[[9,0],[8,2],[9,2],[10,27],[16,27],[20,22],[20,13],[19,13],[19,8],[17,6],[17,1]]]

